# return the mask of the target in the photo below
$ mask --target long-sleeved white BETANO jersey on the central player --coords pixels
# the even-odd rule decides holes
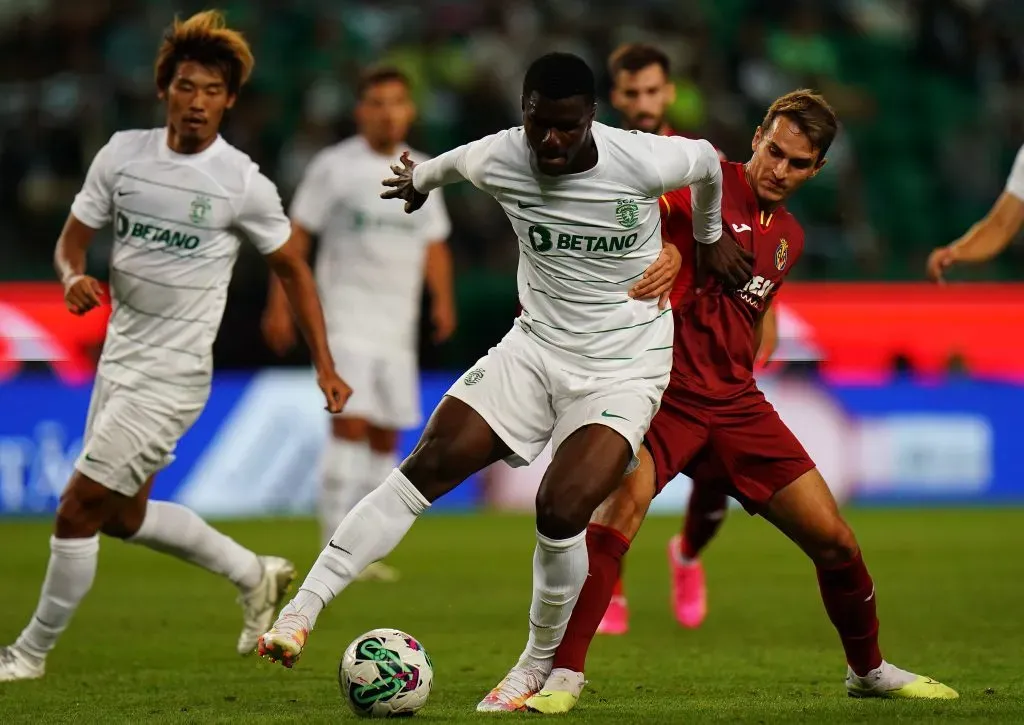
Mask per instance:
[[[462,179],[502,205],[519,239],[517,323],[567,369],[638,375],[672,364],[672,314],[630,289],[662,251],[658,199],[694,185],[694,234],[722,232],[722,171],[708,141],[593,125],[598,161],[564,176],[541,173],[522,128],[421,164],[421,191]],[[400,209],[400,204],[395,204]]]

